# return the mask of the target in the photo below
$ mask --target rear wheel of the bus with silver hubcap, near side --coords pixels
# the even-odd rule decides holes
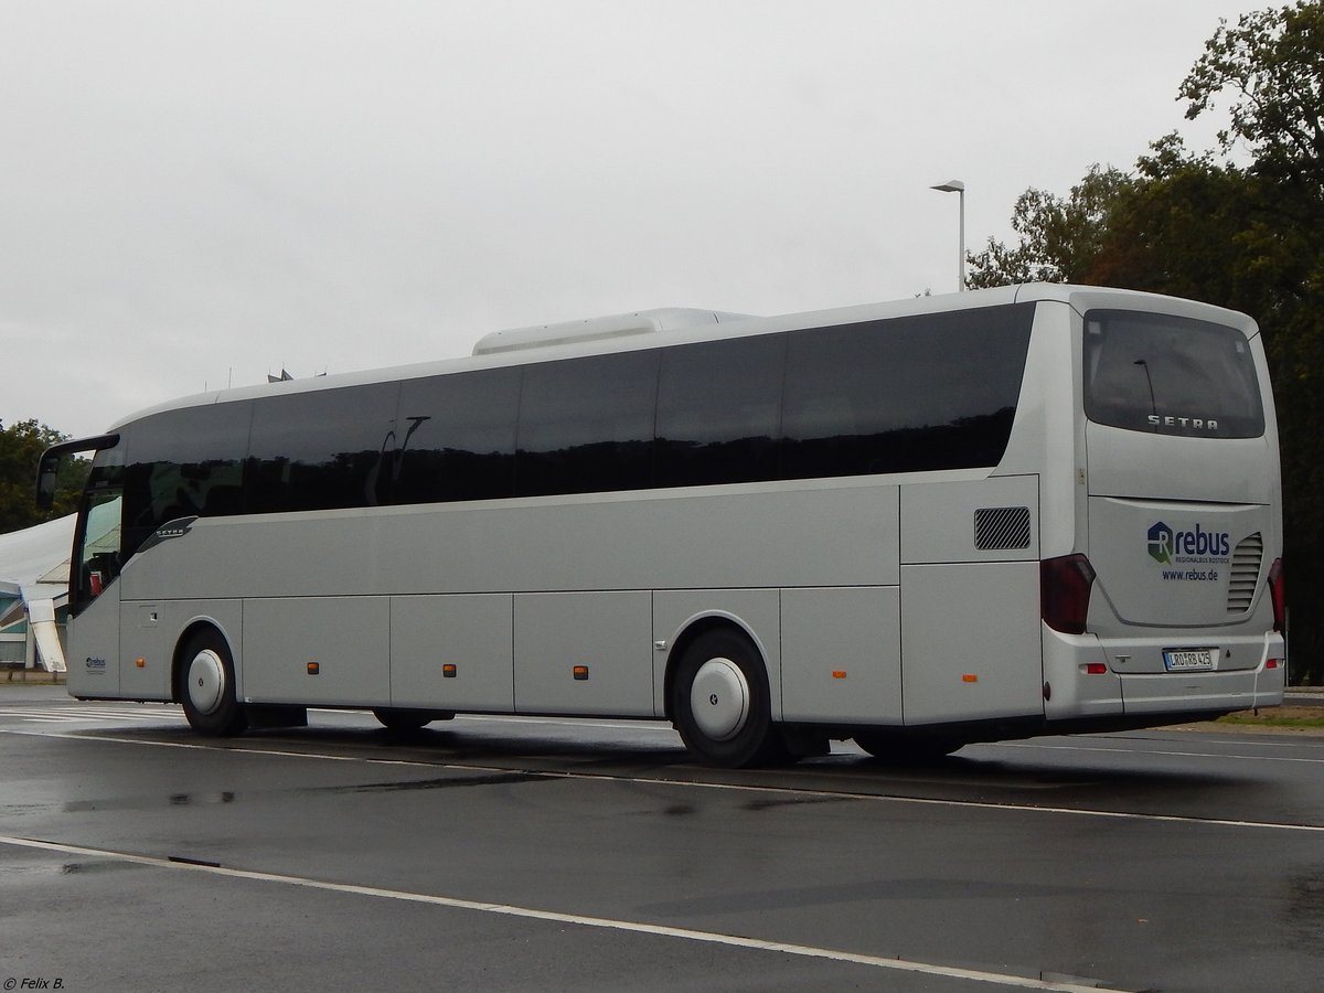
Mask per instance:
[[[686,748],[710,765],[735,769],[789,759],[772,723],[763,659],[735,630],[707,632],[685,650],[671,683],[671,722]]]

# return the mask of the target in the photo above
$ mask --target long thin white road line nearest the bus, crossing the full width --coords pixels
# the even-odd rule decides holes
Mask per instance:
[[[109,741],[147,748],[197,748],[211,752],[236,752],[238,755],[279,756],[282,759],[319,759],[322,761],[361,763],[364,765],[402,765],[426,769],[448,769],[451,772],[486,772],[543,776],[564,780],[596,780],[606,782],[633,782],[650,786],[675,786],[678,789],[715,789],[733,793],[773,793],[777,796],[814,797],[830,800],[858,800],[874,804],[912,804],[920,806],[951,806],[969,810],[1005,810],[1009,813],[1058,814],[1070,817],[1096,817],[1112,821],[1151,821],[1155,824],[1184,824],[1205,828],[1249,828],[1274,831],[1304,831],[1324,834],[1324,825],[1280,824],[1275,821],[1238,821],[1221,817],[1192,817],[1180,814],[1145,814],[1128,810],[1091,810],[1074,806],[1034,806],[1031,804],[997,804],[977,800],[935,800],[932,797],[899,797],[895,794],[857,793],[851,790],[808,789],[804,786],[743,785],[737,782],[698,782],[692,780],[671,780],[659,776],[618,776],[609,772],[561,772],[544,769],[511,769],[500,765],[463,765],[455,763],[429,763],[409,759],[364,759],[354,755],[331,755],[328,752],[282,752],[274,748],[234,748],[201,744],[196,741],[143,741],[136,737],[111,737],[110,735],[65,733],[58,731],[24,731],[0,728],[0,735],[28,737],[61,737],[71,741]]]

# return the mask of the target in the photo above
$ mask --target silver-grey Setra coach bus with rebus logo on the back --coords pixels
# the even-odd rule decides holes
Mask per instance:
[[[1282,496],[1237,312],[1027,285],[662,310],[185,397],[106,434],[69,692],[199,732],[667,719],[739,767],[1282,702]]]

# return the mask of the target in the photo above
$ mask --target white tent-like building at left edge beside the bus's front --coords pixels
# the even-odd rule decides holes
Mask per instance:
[[[0,629],[26,617],[26,657],[36,658],[42,667],[56,673],[65,669],[56,610],[65,606],[69,598],[73,538],[73,515],[0,535],[0,601],[15,601],[0,614]]]

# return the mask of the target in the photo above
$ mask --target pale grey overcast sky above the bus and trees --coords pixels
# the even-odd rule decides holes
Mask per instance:
[[[956,289],[1246,0],[0,0],[0,421]]]

